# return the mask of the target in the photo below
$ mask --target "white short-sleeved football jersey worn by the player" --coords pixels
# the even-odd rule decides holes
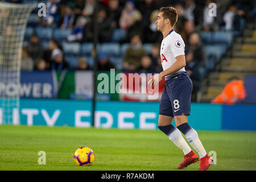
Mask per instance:
[[[171,67],[176,61],[175,57],[179,55],[185,55],[185,43],[181,36],[175,31],[171,31],[166,38],[162,40],[160,47],[160,57],[162,61],[163,70]],[[177,72],[185,71],[185,68],[181,68]]]

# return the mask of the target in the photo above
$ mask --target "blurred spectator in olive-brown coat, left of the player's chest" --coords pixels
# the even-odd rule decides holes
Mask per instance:
[[[141,59],[147,53],[142,46],[139,35],[134,35],[130,41],[130,47],[127,48],[123,57],[123,68],[125,71],[136,71],[139,68]]]

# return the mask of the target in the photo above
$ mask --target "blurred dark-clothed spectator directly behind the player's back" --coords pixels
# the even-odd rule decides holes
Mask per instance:
[[[196,32],[189,36],[189,52],[186,55],[187,65],[185,69],[192,80],[203,81],[205,76],[205,63],[207,55],[204,45],[200,40],[200,35]]]

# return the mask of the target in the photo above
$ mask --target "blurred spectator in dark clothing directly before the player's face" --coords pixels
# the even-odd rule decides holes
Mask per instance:
[[[162,34],[158,31],[155,20],[158,17],[159,10],[155,10],[151,13],[150,19],[147,22],[143,31],[143,42],[156,43],[162,41]]]

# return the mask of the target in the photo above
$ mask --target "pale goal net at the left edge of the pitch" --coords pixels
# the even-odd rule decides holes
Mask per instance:
[[[0,124],[19,123],[22,44],[28,16],[35,7],[0,2]]]

